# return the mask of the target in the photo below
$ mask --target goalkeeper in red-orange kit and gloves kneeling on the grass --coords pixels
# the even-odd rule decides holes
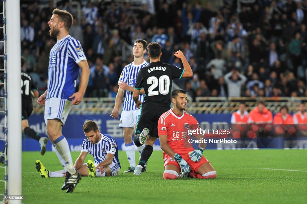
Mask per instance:
[[[205,143],[200,143],[194,150],[189,133],[200,127],[197,120],[187,112],[187,95],[182,89],[175,89],[171,94],[174,107],[161,115],[158,122],[158,135],[164,158],[164,179],[192,177],[199,179],[216,178],[216,171],[202,156]],[[195,135],[196,140],[203,138]],[[179,173],[182,172],[180,175]]]

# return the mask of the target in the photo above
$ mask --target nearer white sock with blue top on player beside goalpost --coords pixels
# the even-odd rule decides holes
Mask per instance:
[[[69,145],[66,138],[62,135],[53,142],[56,145],[57,151],[65,161],[64,162],[65,171],[68,171],[70,174],[75,174],[76,169],[74,167],[74,164],[72,163],[72,156],[70,154]]]

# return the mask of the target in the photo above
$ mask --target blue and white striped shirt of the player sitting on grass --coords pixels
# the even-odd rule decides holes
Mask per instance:
[[[81,152],[90,153],[94,157],[94,163],[97,164],[106,160],[107,154],[114,154],[112,164],[120,167],[117,143],[110,135],[101,134],[101,140],[95,144],[92,144],[87,138],[84,139]]]

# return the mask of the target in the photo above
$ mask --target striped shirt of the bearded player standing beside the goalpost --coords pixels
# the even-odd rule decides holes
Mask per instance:
[[[86,57],[79,40],[68,35],[56,42],[49,55],[47,98],[72,100],[82,60]]]

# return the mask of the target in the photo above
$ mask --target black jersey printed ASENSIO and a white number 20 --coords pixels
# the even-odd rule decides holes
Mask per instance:
[[[162,62],[153,62],[142,67],[134,87],[145,90],[142,110],[170,108],[173,79],[180,79],[183,72],[184,69]]]

